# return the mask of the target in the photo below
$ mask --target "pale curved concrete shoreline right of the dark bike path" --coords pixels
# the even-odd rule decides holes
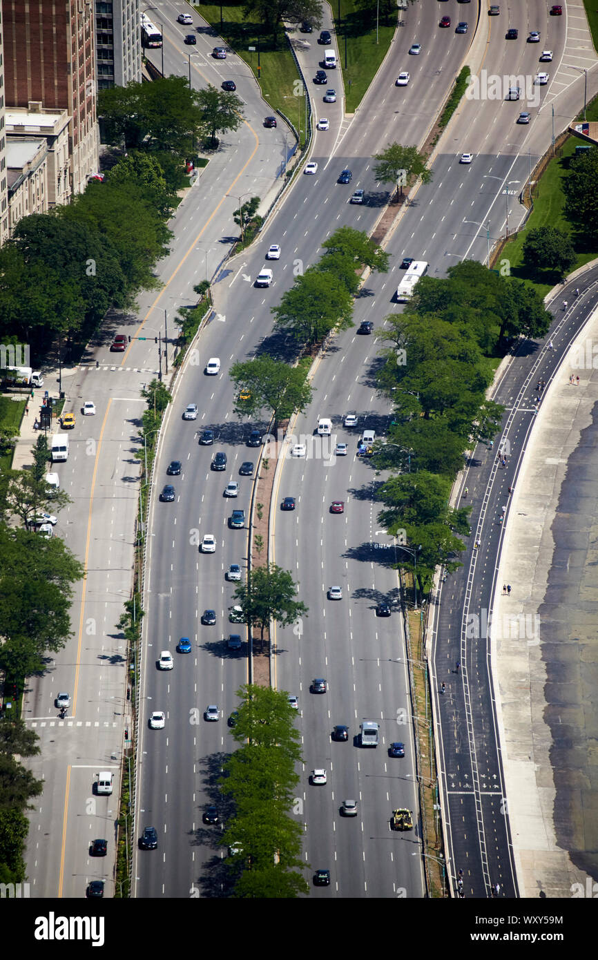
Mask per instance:
[[[588,343],[598,343],[598,311],[540,391],[496,579],[492,664],[522,897],[591,896],[588,877],[598,878],[598,370]]]

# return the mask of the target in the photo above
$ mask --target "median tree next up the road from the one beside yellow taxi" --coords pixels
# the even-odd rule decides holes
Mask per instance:
[[[272,308],[275,326],[287,329],[299,342],[311,346],[335,327],[352,326],[352,298],[339,277],[310,267],[298,276],[278,306]]]

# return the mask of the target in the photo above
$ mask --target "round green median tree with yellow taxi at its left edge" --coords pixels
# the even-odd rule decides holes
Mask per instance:
[[[261,356],[237,361],[229,375],[237,391],[246,387],[251,392],[249,400],[241,400],[237,395],[234,411],[238,417],[272,410],[276,429],[278,420],[288,420],[295,411],[303,412],[311,403],[312,387],[304,367],[289,367],[273,357]]]

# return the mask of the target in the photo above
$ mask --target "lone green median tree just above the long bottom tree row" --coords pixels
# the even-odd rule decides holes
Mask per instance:
[[[234,591],[235,602],[241,607],[245,623],[259,627],[261,641],[264,630],[272,620],[288,627],[299,616],[307,616],[307,607],[297,597],[297,585],[288,570],[276,564],[256,566],[247,584],[239,584]]]

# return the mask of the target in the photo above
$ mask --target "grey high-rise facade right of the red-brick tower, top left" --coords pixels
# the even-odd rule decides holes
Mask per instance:
[[[96,0],[95,14],[98,89],[140,84],[139,0]]]

